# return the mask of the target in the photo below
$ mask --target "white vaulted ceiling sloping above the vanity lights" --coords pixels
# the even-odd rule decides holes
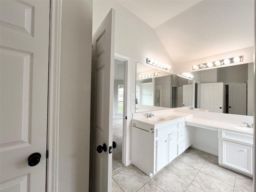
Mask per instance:
[[[253,0],[117,0],[151,26],[174,63],[251,47]]]

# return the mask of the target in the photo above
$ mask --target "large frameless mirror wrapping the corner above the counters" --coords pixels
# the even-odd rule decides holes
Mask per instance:
[[[159,76],[142,75],[160,72]],[[137,63],[136,112],[194,106],[210,112],[253,115],[253,64],[168,74]]]

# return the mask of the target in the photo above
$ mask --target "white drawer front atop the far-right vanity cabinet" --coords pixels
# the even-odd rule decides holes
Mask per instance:
[[[243,142],[247,144],[253,144],[253,136],[246,135],[243,133],[236,133],[236,132],[221,130],[219,132],[219,138],[234,140],[236,142]]]

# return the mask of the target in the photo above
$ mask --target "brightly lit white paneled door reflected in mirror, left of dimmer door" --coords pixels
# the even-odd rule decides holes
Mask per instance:
[[[201,83],[200,108],[223,113],[223,83]]]

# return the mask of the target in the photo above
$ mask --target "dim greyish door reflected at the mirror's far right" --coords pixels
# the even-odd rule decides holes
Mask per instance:
[[[228,85],[228,113],[246,115],[246,83]],[[249,103],[250,105],[250,103]]]

